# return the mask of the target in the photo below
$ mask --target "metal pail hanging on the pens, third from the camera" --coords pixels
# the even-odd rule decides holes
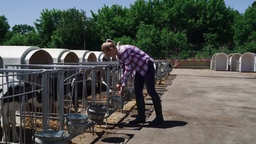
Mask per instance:
[[[104,120],[107,107],[106,105],[91,105],[88,110],[90,119],[96,123],[101,123]]]

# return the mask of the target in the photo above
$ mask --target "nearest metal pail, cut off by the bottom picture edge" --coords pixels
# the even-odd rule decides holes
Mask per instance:
[[[42,130],[34,134],[34,141],[37,144],[64,144],[66,134],[59,130]]]

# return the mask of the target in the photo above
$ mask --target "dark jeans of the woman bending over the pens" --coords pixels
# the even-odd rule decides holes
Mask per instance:
[[[136,71],[135,74],[135,95],[136,95],[136,104],[138,109],[138,118],[145,118],[145,101],[143,97],[143,86],[146,83],[147,91],[150,97],[152,98],[156,116],[162,117],[161,100],[155,91],[155,68],[152,61],[148,61],[148,71],[143,77]]]

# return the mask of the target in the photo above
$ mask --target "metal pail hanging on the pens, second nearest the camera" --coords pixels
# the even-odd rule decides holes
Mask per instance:
[[[66,115],[67,131],[72,135],[81,135],[88,125],[88,116],[80,113],[69,113]]]

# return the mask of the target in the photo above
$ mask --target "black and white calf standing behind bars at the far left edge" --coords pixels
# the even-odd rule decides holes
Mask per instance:
[[[0,74],[0,115],[3,141],[8,142],[10,138],[8,137],[8,129],[10,130],[9,122],[13,129],[13,141],[19,141],[19,135],[16,131],[15,113],[17,111],[22,112],[22,101],[24,104],[42,104],[41,90],[40,87],[31,83],[21,82],[14,77]]]

